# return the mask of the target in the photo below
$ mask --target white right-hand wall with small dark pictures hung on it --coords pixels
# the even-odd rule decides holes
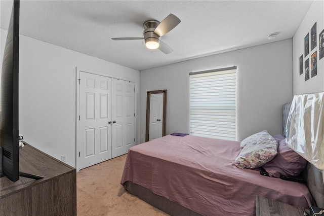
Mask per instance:
[[[309,47],[309,54],[304,54],[304,38],[309,33],[310,40],[310,29],[316,22],[316,38],[317,46],[311,50]],[[298,30],[296,31],[293,38],[293,69],[294,69],[294,94],[306,94],[324,91],[324,58],[319,59],[319,39],[318,34],[324,29],[324,1],[313,1],[306,16],[301,22]],[[305,60],[310,58],[311,54],[317,51],[317,75],[309,78],[305,81]],[[304,73],[299,75],[299,57],[303,55],[303,68]]]

